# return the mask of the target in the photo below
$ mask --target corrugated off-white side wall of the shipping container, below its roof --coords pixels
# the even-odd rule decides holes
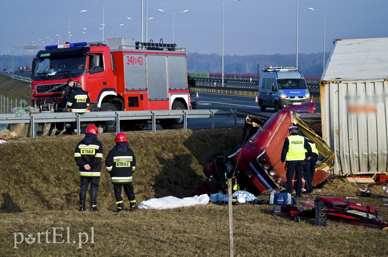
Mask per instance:
[[[334,174],[388,172],[388,80],[321,81],[322,136]]]

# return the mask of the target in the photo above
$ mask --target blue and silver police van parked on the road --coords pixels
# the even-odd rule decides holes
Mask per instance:
[[[275,112],[287,106],[309,103],[310,93],[302,74],[290,67],[267,67],[262,69],[259,80],[259,106]]]

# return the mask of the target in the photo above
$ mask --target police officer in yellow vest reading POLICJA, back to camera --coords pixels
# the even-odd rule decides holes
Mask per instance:
[[[303,161],[306,158],[310,159],[311,146],[305,140],[305,137],[299,136],[297,133],[297,127],[291,126],[288,128],[291,133],[284,140],[281,161],[283,164],[287,161],[286,171],[286,192],[292,193],[292,178],[296,171],[296,197],[300,197],[302,194],[302,176],[303,176]]]

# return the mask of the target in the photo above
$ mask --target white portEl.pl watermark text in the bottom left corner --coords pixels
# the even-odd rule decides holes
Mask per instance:
[[[82,244],[94,242],[94,227],[90,227],[90,233],[79,232],[77,240],[70,240],[70,227],[50,227],[45,232],[15,232],[14,248],[23,242],[32,243],[73,243],[78,244],[78,248],[82,248]],[[90,241],[89,241],[90,239]]]

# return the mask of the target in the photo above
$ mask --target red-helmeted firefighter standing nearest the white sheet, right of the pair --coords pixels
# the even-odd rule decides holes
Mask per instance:
[[[120,132],[115,138],[116,144],[108,153],[105,160],[106,168],[111,175],[114,197],[116,198],[117,211],[123,210],[123,198],[121,189],[128,197],[130,209],[133,212],[137,210],[135,194],[133,193],[132,176],[136,166],[136,158],[133,151],[129,148],[127,136]]]

